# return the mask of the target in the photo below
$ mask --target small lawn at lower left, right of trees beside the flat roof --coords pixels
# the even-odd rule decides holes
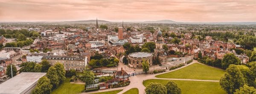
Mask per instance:
[[[84,90],[84,85],[70,84],[70,78],[67,78],[57,89],[53,90],[51,94],[78,94]]]

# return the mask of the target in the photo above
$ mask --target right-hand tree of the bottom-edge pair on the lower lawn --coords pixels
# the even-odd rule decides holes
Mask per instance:
[[[177,84],[173,81],[169,81],[165,85],[167,89],[167,94],[181,94],[181,89],[177,86]]]

